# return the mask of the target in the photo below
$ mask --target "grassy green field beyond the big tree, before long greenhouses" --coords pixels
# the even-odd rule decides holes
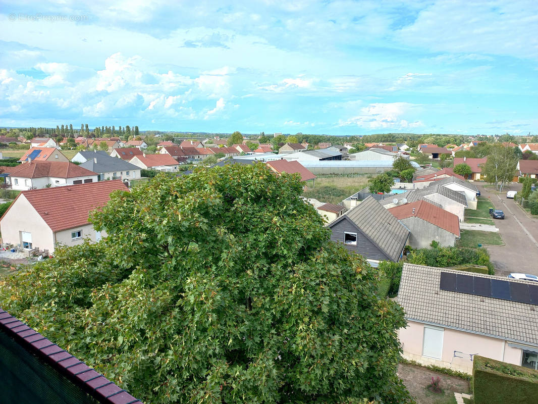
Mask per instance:
[[[367,177],[318,177],[316,178],[315,188],[308,187],[303,192],[303,197],[314,198],[320,202],[336,205],[367,185]]]

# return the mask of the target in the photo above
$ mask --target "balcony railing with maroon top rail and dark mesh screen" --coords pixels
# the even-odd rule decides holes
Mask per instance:
[[[2,378],[9,383],[9,389],[2,393],[3,402],[141,403],[79,358],[2,309],[0,346]],[[72,377],[75,374],[77,376]]]

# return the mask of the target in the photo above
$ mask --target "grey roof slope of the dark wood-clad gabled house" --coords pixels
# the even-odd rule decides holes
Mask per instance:
[[[347,212],[347,216],[385,254],[398,262],[409,237],[408,229],[373,197],[368,197]]]

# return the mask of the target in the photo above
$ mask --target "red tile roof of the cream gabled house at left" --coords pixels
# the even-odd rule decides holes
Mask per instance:
[[[90,211],[107,204],[110,192],[116,190],[128,191],[128,188],[121,180],[116,179],[23,191],[17,199],[21,195],[24,196],[45,220],[48,227],[53,232],[59,232],[88,224]],[[17,202],[17,199],[11,206]]]

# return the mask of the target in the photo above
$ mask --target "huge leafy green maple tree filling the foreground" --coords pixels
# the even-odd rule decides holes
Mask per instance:
[[[145,402],[409,402],[401,308],[301,192],[263,164],[160,174],[91,216],[107,238],[4,278],[0,305]]]

